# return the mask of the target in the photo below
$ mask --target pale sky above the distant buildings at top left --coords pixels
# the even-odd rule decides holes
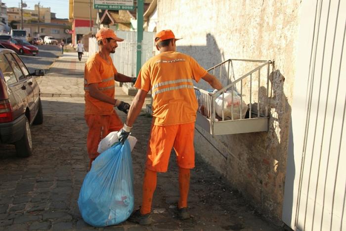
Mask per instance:
[[[28,7],[25,9],[35,9],[35,4],[40,2],[41,7],[50,7],[51,13],[56,13],[57,18],[69,17],[69,0],[23,0]],[[2,0],[7,7],[19,7],[20,0]]]

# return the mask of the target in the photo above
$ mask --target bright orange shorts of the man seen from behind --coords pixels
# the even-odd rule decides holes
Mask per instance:
[[[167,172],[172,147],[174,147],[180,168],[194,168],[194,133],[195,123],[172,126],[152,125],[148,142],[146,168],[155,172]]]

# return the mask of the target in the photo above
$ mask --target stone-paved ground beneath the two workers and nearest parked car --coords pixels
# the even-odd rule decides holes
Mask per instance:
[[[29,66],[37,68],[50,65],[44,60],[54,59],[54,52],[49,58],[21,57],[25,62],[30,59]],[[17,158],[14,146],[0,146],[0,231],[95,229],[83,221],[77,206],[88,163],[83,96],[85,60],[83,57],[79,62],[77,53],[64,53],[46,76],[37,79],[42,92],[44,121],[43,125],[32,127],[33,155]],[[129,103],[133,99],[119,87],[116,95]],[[119,111],[118,114],[124,121],[125,114]],[[135,208],[141,201],[150,123],[151,118],[143,110],[132,132],[138,139],[132,151]],[[198,155],[196,168],[191,172],[189,194],[193,218],[179,221],[175,214],[179,194],[177,176],[175,157],[171,155],[169,171],[158,174],[153,225],[142,227],[125,222],[104,230],[280,230],[263,221],[240,193],[227,185]]]

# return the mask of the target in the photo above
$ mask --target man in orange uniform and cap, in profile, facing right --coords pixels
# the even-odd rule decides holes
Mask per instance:
[[[87,134],[87,153],[89,169],[92,161],[100,154],[97,152],[98,143],[110,132],[119,131],[123,122],[114,110],[128,113],[130,104],[115,99],[115,82],[134,83],[136,78],[130,78],[117,72],[110,53],[118,47],[118,38],[113,30],[102,28],[96,34],[99,46],[98,52],[87,59],[84,70],[85,90],[85,119],[89,128]]]

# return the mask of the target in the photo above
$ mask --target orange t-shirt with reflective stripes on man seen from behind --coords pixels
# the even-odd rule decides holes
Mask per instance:
[[[151,91],[154,125],[187,124],[196,121],[198,109],[192,80],[198,82],[206,74],[189,55],[166,51],[142,66],[134,87]]]

